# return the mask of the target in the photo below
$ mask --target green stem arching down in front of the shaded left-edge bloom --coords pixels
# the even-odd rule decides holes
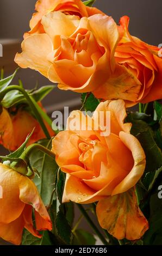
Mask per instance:
[[[47,127],[43,122],[43,119],[42,119],[42,117],[41,117],[41,115],[38,111],[38,108],[36,108],[35,103],[33,102],[33,98],[31,96],[29,96],[28,93],[26,92],[26,90],[24,90],[22,87],[20,87],[20,86],[9,86],[9,87],[5,88],[5,90],[3,90],[3,92],[0,94],[0,102],[3,100],[5,94],[10,92],[11,90],[18,90],[24,95],[24,97],[26,97],[27,102],[29,103],[29,106],[30,106],[30,108],[32,109],[32,111],[34,113],[35,118],[39,121],[43,132],[45,133],[46,137],[48,139],[50,139],[51,136],[49,135]]]

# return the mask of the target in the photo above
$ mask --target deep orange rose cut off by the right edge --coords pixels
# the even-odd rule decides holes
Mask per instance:
[[[162,98],[162,58],[158,57],[159,48],[151,46],[131,36],[128,31],[129,17],[120,20],[121,40],[115,51],[117,63],[126,66],[141,83],[135,102],[128,105],[146,103]],[[129,99],[128,99],[129,100]]]

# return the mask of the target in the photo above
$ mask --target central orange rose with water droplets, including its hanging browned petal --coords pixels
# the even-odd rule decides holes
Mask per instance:
[[[104,118],[110,111],[109,136],[101,136],[102,126],[98,125],[101,111]],[[100,103],[92,118],[73,111],[67,121],[68,130],[53,139],[52,151],[66,173],[63,203],[99,201],[96,213],[101,227],[117,239],[135,240],[148,229],[134,191],[146,160],[138,139],[130,135],[132,124],[124,124],[126,116],[123,100]],[[83,129],[71,128],[71,124],[78,126],[79,122]],[[99,130],[93,128],[97,125]]]

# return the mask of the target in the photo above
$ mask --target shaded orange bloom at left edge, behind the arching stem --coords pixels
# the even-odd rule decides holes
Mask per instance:
[[[51,136],[54,136],[52,128],[46,124]],[[35,129],[34,129],[35,128]],[[32,114],[19,108],[17,112],[10,112],[2,108],[0,114],[0,144],[10,151],[14,151],[21,146],[26,137],[34,129],[27,145],[33,144],[40,139],[46,138],[39,122]]]

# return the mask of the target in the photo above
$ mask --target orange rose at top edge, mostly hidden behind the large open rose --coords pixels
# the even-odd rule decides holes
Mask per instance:
[[[24,38],[32,34],[45,33],[41,24],[41,19],[51,11],[61,11],[68,15],[79,17],[89,17],[94,14],[102,13],[97,8],[86,7],[81,0],[39,0],[35,5],[36,13],[30,20],[30,31],[24,34]]]

